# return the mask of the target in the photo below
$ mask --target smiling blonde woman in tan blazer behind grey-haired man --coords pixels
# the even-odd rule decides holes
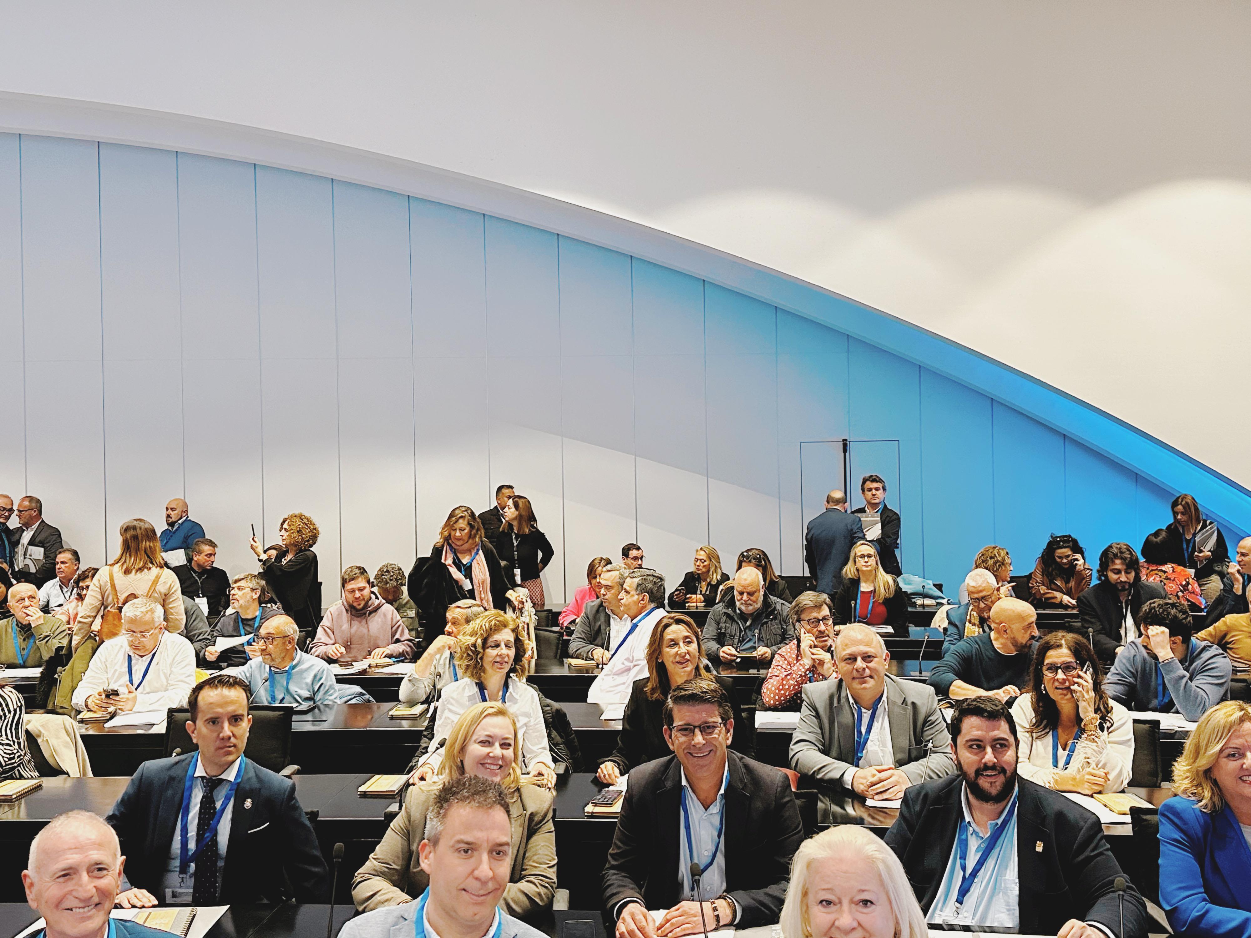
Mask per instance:
[[[352,898],[359,910],[400,905],[425,890],[430,879],[422,869],[418,847],[425,839],[427,814],[439,788],[463,775],[498,782],[508,795],[513,849],[499,904],[517,917],[550,908],[555,897],[552,793],[523,779],[517,737],[517,722],[503,704],[477,703],[460,715],[448,734],[439,777],[409,788],[404,809],[353,878]]]

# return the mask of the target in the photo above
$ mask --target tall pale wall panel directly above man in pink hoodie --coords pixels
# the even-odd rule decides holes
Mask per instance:
[[[343,565],[407,568],[417,543],[408,199],[335,183],[334,251]]]

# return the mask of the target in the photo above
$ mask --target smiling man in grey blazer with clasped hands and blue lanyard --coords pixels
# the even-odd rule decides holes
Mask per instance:
[[[827,820],[831,794],[897,800],[909,785],[956,770],[933,688],[888,675],[881,635],[844,625],[834,662],[841,680],[804,687],[791,737],[791,768],[822,783]]]

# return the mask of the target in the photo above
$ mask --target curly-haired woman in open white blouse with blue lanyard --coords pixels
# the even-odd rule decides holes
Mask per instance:
[[[434,718],[434,739],[447,739],[460,714],[475,703],[498,700],[517,720],[522,742],[522,768],[548,788],[555,784],[555,763],[547,742],[543,708],[534,688],[517,677],[518,665],[529,653],[525,632],[517,619],[498,609],[488,609],[457,635],[457,665],[464,675],[448,684],[439,695]],[[417,769],[417,780],[434,777],[442,750],[428,753]]]

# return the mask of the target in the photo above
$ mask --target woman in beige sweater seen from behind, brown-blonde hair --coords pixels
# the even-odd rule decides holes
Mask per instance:
[[[186,623],[183,589],[174,572],[165,567],[160,540],[156,539],[156,529],[151,522],[131,518],[121,523],[120,534],[118,555],[95,575],[79,607],[78,622],[74,624],[75,650],[88,635],[99,632],[109,609],[120,610],[135,597],[148,597],[160,603],[165,610],[168,632],[181,632]],[[120,625],[120,619],[118,622]]]

